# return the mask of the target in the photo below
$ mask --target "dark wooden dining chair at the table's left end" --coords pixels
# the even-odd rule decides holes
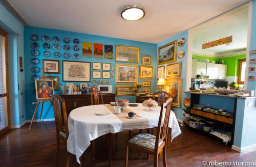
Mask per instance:
[[[56,134],[57,134],[57,152],[56,152],[56,163],[59,159],[59,150],[60,150],[60,140],[66,142],[69,138],[69,128],[68,128],[68,119],[66,112],[65,100],[59,97],[58,95],[53,95],[53,111],[54,119],[56,125]],[[80,165],[82,166],[82,156],[80,159]],[[67,150],[66,166],[69,166],[70,162],[70,153]]]

